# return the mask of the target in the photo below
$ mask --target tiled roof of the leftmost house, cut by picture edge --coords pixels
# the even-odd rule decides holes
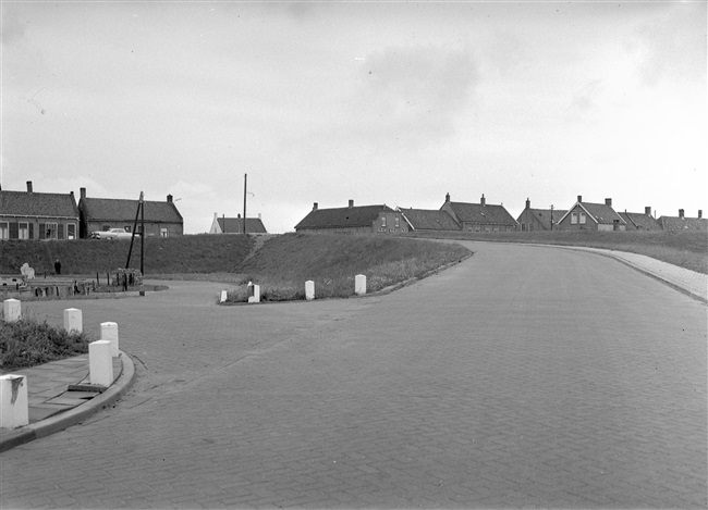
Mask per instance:
[[[0,215],[78,219],[72,194],[0,191]]]

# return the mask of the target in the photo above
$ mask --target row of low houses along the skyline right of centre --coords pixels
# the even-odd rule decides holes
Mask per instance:
[[[296,232],[309,233],[377,233],[399,234],[426,231],[466,232],[534,232],[534,231],[708,231],[708,220],[698,211],[698,217],[686,217],[684,210],[679,216],[655,219],[651,208],[643,213],[617,212],[612,199],[594,203],[577,197],[565,210],[535,209],[526,199],[524,211],[514,219],[503,204],[487,203],[483,195],[478,203],[455,202],[445,195],[438,210],[392,209],[386,204],[354,206],[320,209],[315,202],[313,210],[295,225]]]

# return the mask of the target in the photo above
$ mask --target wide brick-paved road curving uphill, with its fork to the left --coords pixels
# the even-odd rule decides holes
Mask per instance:
[[[1,507],[706,508],[706,307],[593,253],[472,246],[381,297],[80,302],[145,366],[2,453]]]

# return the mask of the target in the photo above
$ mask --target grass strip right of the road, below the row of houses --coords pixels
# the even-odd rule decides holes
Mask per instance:
[[[708,233],[699,231],[631,231],[631,232],[445,232],[413,233],[414,237],[487,240],[497,242],[535,242],[545,245],[585,246],[639,253],[691,271],[708,274]]]

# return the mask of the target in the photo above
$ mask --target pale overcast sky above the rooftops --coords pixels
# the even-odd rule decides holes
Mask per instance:
[[[708,213],[698,2],[2,1],[4,190],[293,231],[453,201]]]

